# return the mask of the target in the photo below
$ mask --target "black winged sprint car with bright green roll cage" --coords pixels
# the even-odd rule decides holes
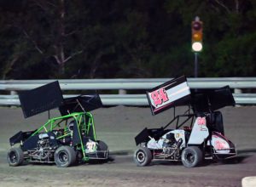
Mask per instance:
[[[39,93],[41,91],[39,90]],[[26,93],[26,96],[29,95]],[[35,110],[37,108],[35,105],[30,107],[33,110],[24,107],[22,94],[19,97],[24,116],[38,113]],[[56,98],[54,100],[57,101]],[[51,100],[49,103],[58,102]],[[56,105],[60,105],[61,116],[49,119],[35,131],[20,131],[9,139],[12,146],[8,152],[9,166],[19,166],[24,162],[38,162],[55,163],[58,167],[69,167],[84,161],[108,160],[108,145],[96,139],[94,118],[90,112],[85,111],[85,109],[91,111],[102,105],[99,95],[63,99],[60,103],[61,105]],[[92,107],[92,105],[94,106]],[[45,111],[45,107],[39,107],[39,111],[42,108]],[[49,109],[49,105],[46,108]]]

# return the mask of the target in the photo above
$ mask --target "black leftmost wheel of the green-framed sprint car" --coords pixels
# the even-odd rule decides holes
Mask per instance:
[[[11,167],[17,167],[21,165],[24,161],[23,150],[21,150],[20,147],[11,148],[8,151],[7,160],[9,162],[9,166]]]

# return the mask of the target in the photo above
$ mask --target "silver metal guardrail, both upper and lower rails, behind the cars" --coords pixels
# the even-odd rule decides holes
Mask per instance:
[[[58,80],[62,90],[137,90],[150,89],[172,78],[149,79],[71,79]],[[20,91],[37,88],[56,80],[9,80],[0,81],[0,90]],[[242,78],[188,78],[190,88],[256,88],[256,77]],[[64,95],[72,97],[74,95]],[[148,105],[146,94],[101,94],[103,105]],[[237,105],[255,105],[256,94],[233,94]],[[20,105],[17,95],[0,95],[0,105]]]

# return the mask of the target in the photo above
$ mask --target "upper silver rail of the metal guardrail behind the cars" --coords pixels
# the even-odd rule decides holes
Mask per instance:
[[[91,89],[150,89],[172,78],[138,79],[61,79],[62,90]],[[0,81],[0,90],[27,90],[56,80],[9,80]],[[256,77],[188,78],[190,88],[256,88]]]

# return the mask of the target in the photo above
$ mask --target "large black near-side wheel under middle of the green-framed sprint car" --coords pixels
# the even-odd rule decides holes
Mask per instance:
[[[55,150],[55,163],[57,167],[69,167],[76,161],[76,152],[72,147],[61,146]]]

